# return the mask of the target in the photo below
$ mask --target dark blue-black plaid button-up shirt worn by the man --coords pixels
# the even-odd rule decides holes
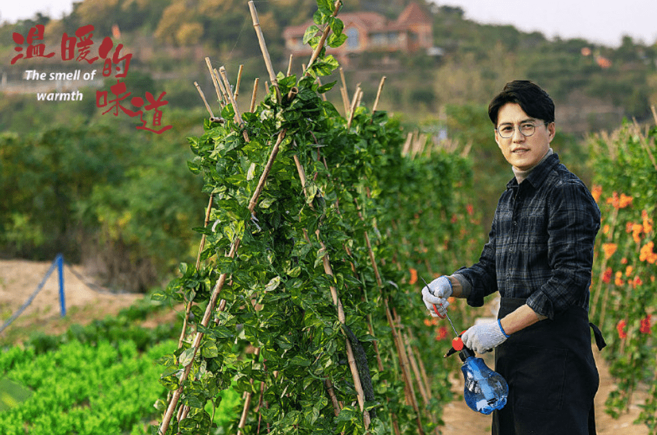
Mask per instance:
[[[600,209],[585,184],[552,154],[502,193],[479,262],[457,274],[470,284],[468,304],[496,291],[526,298],[550,319],[570,306],[588,310]]]

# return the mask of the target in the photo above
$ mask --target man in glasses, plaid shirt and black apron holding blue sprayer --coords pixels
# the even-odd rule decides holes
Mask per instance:
[[[463,343],[495,349],[509,384],[492,434],[595,434],[598,371],[588,321],[593,247],[600,211],[585,185],[550,148],[554,103],[529,81],[505,85],[488,106],[495,141],[512,166],[479,262],[422,290],[444,310],[447,297],[482,306],[501,295],[498,321],[472,326]],[[594,328],[598,346],[604,342]]]

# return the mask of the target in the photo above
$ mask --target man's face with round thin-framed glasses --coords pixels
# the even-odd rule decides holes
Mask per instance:
[[[530,124],[535,126],[534,134],[525,136],[522,131],[530,130]],[[499,131],[511,129],[510,138],[500,136]],[[553,138],[554,123],[545,125],[543,120],[528,116],[519,104],[506,103],[499,109],[495,142],[506,161],[517,169],[526,171],[536,166],[547,154]]]

